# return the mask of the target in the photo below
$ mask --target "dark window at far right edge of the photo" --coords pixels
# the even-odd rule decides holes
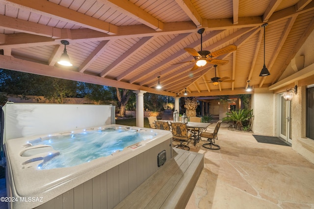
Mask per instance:
[[[307,89],[306,137],[314,139],[314,87]]]

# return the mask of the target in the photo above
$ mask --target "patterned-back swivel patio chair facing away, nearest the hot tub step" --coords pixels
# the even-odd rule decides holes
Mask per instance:
[[[172,136],[173,140],[180,141],[180,144],[176,146],[176,148],[180,147],[181,149],[190,150],[190,147],[187,146],[191,135],[187,131],[187,124],[181,123],[181,122],[173,122],[171,123],[171,130],[172,130]],[[183,144],[183,142],[186,142],[186,144]]]

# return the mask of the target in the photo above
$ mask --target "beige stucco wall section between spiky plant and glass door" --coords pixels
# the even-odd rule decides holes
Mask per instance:
[[[275,135],[275,95],[267,88],[256,88],[252,95],[254,115],[252,130],[255,134]]]

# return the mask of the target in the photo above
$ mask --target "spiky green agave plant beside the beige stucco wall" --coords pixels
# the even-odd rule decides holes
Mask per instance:
[[[237,130],[243,130],[243,122],[250,120],[253,110],[240,109],[238,111],[232,111],[227,113],[227,117],[222,118],[223,121],[234,121]]]

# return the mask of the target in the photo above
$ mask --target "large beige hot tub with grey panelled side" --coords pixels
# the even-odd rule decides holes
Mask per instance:
[[[65,156],[63,150],[49,144],[50,139],[67,135],[75,138],[85,133],[97,134],[106,130],[132,132],[144,137],[126,147],[109,149],[107,154],[94,156],[92,159],[82,158],[79,163],[75,161],[74,164],[67,164],[66,160],[57,163],[57,166],[47,166],[54,159]],[[108,140],[112,136],[106,135],[105,138]],[[91,139],[84,140],[86,146],[94,143],[90,142]],[[99,139],[99,143],[102,140]],[[69,148],[72,145],[74,149],[76,145],[72,142],[66,142],[65,146]],[[96,147],[101,146],[104,143],[96,143]],[[92,156],[93,152],[105,152],[96,151],[93,147],[90,149],[78,149],[75,151],[78,152],[75,158],[82,155]],[[52,135],[10,139],[5,143],[5,152],[9,207],[113,208],[157,171],[160,166],[157,162],[158,154],[163,153],[167,160],[172,157],[172,134],[163,130],[111,124]]]

